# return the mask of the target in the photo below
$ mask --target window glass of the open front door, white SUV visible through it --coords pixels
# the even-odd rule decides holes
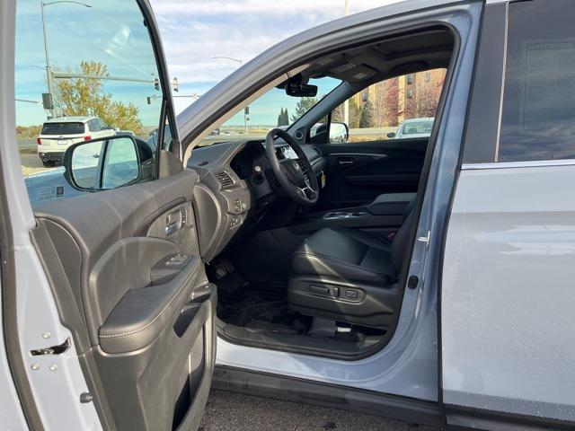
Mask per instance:
[[[31,203],[154,180],[152,132],[164,95],[137,2],[18,0],[15,40],[16,133]],[[75,158],[75,168],[86,163],[84,173],[105,162],[102,183],[90,189],[70,182],[65,154],[93,139],[106,139],[95,143],[106,148],[105,160]],[[93,145],[75,148],[97,153]],[[129,180],[134,163],[146,175]]]

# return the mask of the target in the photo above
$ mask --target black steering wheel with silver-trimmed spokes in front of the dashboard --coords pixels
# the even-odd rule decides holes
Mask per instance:
[[[274,138],[281,137],[296,152],[296,159],[279,160],[276,154]],[[266,136],[266,155],[271,164],[271,171],[278,179],[279,185],[289,198],[304,207],[311,207],[319,198],[319,186],[314,170],[304,150],[296,140],[281,128],[272,128]]]

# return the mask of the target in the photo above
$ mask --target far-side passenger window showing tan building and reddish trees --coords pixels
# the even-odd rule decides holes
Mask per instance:
[[[446,69],[433,69],[370,85],[332,111],[330,142],[373,142],[429,137]],[[349,127],[342,139],[342,124]],[[312,136],[314,135],[312,130]]]

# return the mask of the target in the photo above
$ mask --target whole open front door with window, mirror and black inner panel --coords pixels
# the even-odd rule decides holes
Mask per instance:
[[[18,321],[40,418],[49,429],[195,429],[215,360],[217,292],[199,258],[198,175],[182,168],[154,17],[146,1],[18,0],[16,72],[44,58],[41,13],[48,76],[16,73],[15,91],[41,99],[51,89],[54,106],[17,105],[19,130],[94,115],[136,140],[83,142],[74,154],[84,159],[52,169],[21,154],[33,206],[21,204],[34,222],[22,231],[33,248],[22,250]],[[96,181],[106,189],[70,179],[108,162],[113,177]]]

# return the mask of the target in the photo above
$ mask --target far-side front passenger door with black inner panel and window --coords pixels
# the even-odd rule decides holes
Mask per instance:
[[[332,122],[349,125],[349,138],[318,145],[327,159],[320,207],[358,207],[382,193],[417,191],[429,135],[395,135],[406,120],[435,116],[445,73],[433,69],[370,85],[347,101],[347,115],[345,103],[332,112]]]

